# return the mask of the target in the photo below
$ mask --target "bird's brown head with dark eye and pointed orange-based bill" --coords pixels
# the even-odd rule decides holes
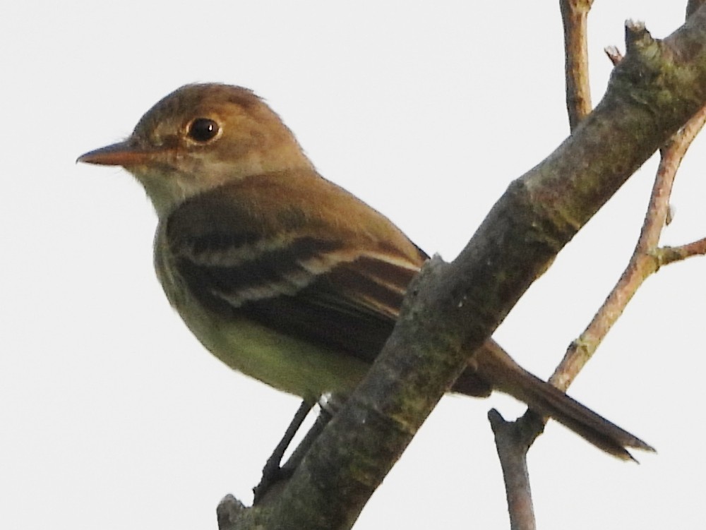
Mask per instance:
[[[311,162],[280,117],[251,90],[186,85],[157,102],[126,140],[78,162],[122,166],[143,184],[157,214],[222,183]]]

